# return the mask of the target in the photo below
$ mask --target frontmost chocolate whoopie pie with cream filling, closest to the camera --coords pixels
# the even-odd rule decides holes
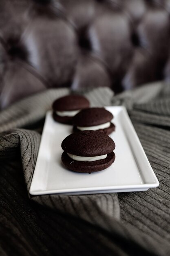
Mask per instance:
[[[62,162],[79,173],[92,173],[108,168],[115,161],[115,143],[104,132],[75,132],[62,141]]]

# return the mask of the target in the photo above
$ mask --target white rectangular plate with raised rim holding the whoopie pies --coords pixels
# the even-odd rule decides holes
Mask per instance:
[[[55,122],[52,112],[47,112],[29,190],[31,195],[144,191],[159,186],[126,108],[106,109],[114,115],[116,130],[110,137],[116,144],[116,159],[109,168],[91,174],[69,171],[62,165],[61,143],[72,133],[72,126]]]

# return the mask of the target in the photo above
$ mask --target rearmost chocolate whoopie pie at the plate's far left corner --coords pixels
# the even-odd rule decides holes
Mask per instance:
[[[61,97],[53,102],[53,119],[63,124],[71,124],[73,117],[89,105],[89,101],[81,95]]]

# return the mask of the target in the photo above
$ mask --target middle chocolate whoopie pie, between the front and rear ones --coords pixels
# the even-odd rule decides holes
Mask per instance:
[[[110,122],[112,119],[112,113],[105,108],[86,108],[73,118],[73,132],[98,130],[109,135],[115,130],[115,125]]]

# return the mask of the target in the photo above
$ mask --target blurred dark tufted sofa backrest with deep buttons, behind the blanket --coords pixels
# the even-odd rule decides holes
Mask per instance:
[[[169,0],[0,0],[0,108],[53,87],[170,80]]]

